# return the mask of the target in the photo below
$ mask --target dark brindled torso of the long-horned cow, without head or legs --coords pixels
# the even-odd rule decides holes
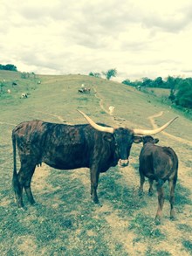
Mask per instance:
[[[112,144],[89,124],[65,125],[45,121],[26,121],[14,128],[21,161],[46,163],[59,170],[90,168],[100,171],[117,164]]]

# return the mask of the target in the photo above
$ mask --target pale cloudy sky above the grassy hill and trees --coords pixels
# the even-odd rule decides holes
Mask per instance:
[[[0,64],[116,80],[192,77],[191,0],[0,0]]]

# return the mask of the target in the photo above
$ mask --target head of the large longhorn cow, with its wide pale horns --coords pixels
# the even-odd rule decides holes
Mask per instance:
[[[82,111],[78,110],[80,114],[82,114],[86,121],[89,124],[99,130],[100,132],[105,132],[111,134],[111,136],[106,136],[105,139],[109,142],[114,142],[115,144],[115,153],[120,160],[120,166],[127,166],[129,161],[128,157],[130,155],[130,150],[133,143],[142,142],[143,135],[155,135],[160,133],[163,129],[167,128],[177,117],[168,121],[166,124],[161,126],[161,128],[156,128],[153,130],[143,130],[143,129],[129,129],[129,128],[112,128],[112,127],[103,127],[99,124],[95,123],[90,117],[84,114]]]

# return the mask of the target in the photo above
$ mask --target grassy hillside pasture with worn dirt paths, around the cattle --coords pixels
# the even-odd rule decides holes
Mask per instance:
[[[189,119],[161,104],[153,95],[113,81],[84,75],[22,79],[20,73],[0,72],[0,80],[3,79],[6,81],[0,94],[0,255],[191,255]],[[17,86],[12,87],[12,81]],[[91,93],[78,93],[82,83],[91,88]],[[6,93],[9,88],[10,94]],[[29,93],[29,97],[20,99],[21,93]],[[107,112],[110,105],[115,107],[114,116]],[[93,121],[129,128],[153,128],[179,116],[156,135],[160,145],[172,147],[179,157],[174,221],[169,219],[168,183],[159,225],[154,224],[157,196],[147,196],[147,181],[144,196],[138,195],[141,144],[133,145],[128,167],[116,166],[100,174],[98,196],[102,207],[91,201],[88,169],[55,170],[43,164],[36,169],[31,183],[37,204],[28,204],[24,194],[27,210],[17,209],[11,188],[11,130],[19,122],[33,119],[86,123],[76,109]]]

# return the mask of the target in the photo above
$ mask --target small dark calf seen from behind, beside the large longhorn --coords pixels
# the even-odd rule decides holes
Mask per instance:
[[[155,220],[161,220],[161,211],[164,203],[164,191],[162,185],[168,180],[170,191],[170,218],[175,218],[174,202],[175,202],[175,185],[178,172],[178,157],[175,151],[169,147],[156,146],[158,139],[152,136],[144,136],[143,148],[140,153],[140,176],[141,187],[140,192],[143,192],[143,183],[145,176],[148,178],[149,190],[148,193],[153,193],[153,182],[157,182],[158,194],[158,209]]]

